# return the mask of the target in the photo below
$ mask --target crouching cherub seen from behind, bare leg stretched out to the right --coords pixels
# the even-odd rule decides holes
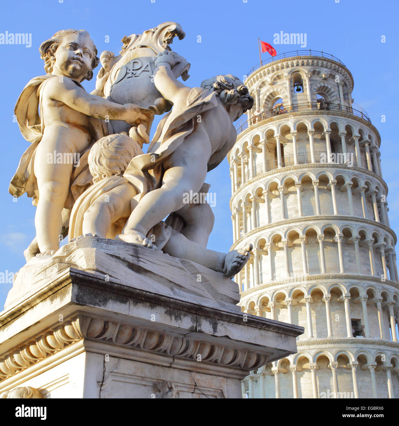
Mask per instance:
[[[137,206],[134,197],[138,195],[137,187],[123,173],[131,159],[142,152],[134,139],[122,134],[106,136],[93,145],[88,157],[93,185],[73,206],[69,224],[70,241],[82,235],[114,239],[121,232]],[[207,214],[208,208],[209,204],[192,204],[189,210],[191,215],[201,217]],[[197,210],[197,213],[192,210]],[[206,230],[202,224],[199,227],[202,233],[208,232],[208,235],[212,228]],[[150,247],[154,240],[159,250],[174,257],[192,260],[224,273],[229,278],[241,271],[252,250],[252,245],[229,253],[208,250],[161,221],[151,227],[140,244]],[[152,247],[155,248],[154,245]]]

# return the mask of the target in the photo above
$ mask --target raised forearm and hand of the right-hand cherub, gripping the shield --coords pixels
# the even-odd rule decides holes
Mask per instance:
[[[184,92],[187,94],[191,91],[191,87],[185,86],[178,81],[172,72],[172,66],[178,63],[173,58],[173,52],[160,53],[155,60],[154,84],[161,95],[171,104],[175,104],[177,98],[181,98]]]

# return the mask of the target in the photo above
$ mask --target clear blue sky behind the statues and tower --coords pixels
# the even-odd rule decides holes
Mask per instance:
[[[370,0],[18,0],[3,2],[0,33],[31,33],[32,46],[0,44],[3,66],[0,69],[0,104],[3,136],[0,170],[0,272],[16,272],[24,265],[23,250],[35,236],[35,207],[26,194],[13,202],[8,193],[25,141],[13,122],[13,110],[23,86],[29,79],[43,75],[38,48],[60,29],[86,29],[99,53],[116,54],[124,35],[141,34],[165,21],[181,24],[183,40],[175,39],[172,49],[191,63],[186,84],[199,86],[204,78],[233,74],[240,78],[259,63],[257,38],[273,44],[274,33],[306,33],[305,49],[323,50],[340,58],[352,72],[355,88],[352,98],[370,115],[379,130],[384,180],[390,224],[399,230],[399,154],[395,145],[399,112],[399,35],[396,1]],[[119,16],[118,16],[119,15]],[[105,37],[109,36],[109,43]],[[198,43],[201,35],[201,43]],[[385,43],[381,43],[382,35]],[[301,49],[300,46],[274,45],[277,54]],[[264,53],[263,58],[268,58]],[[96,75],[98,69],[95,70]],[[85,81],[88,92],[95,78]],[[381,115],[386,116],[385,123]],[[154,131],[155,126],[153,126]],[[210,191],[216,193],[216,216],[208,247],[228,251],[232,243],[230,220],[230,177],[227,160],[208,173]],[[3,306],[12,284],[0,284]],[[0,308],[1,309],[1,308]]]

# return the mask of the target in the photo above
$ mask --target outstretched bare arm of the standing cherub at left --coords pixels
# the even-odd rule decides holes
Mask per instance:
[[[153,112],[134,104],[115,104],[96,95],[90,95],[77,86],[70,78],[60,82],[53,78],[46,86],[47,96],[55,101],[61,101],[76,111],[95,118],[122,120],[134,125],[137,121],[147,121]]]

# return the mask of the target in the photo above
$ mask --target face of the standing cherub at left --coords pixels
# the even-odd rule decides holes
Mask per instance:
[[[52,74],[66,75],[76,81],[82,81],[91,69],[94,55],[93,42],[82,34],[68,34],[54,53],[55,63]]]

